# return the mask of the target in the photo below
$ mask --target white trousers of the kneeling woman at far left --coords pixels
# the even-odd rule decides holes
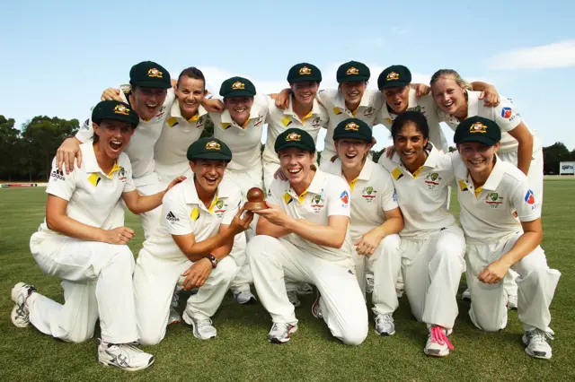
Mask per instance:
[[[31,253],[45,273],[57,276],[64,288],[64,305],[32,293],[30,321],[40,332],[81,343],[93,337],[100,317],[102,340],[137,340],[132,272],[134,256],[128,246],[84,241],[54,235],[31,237]]]

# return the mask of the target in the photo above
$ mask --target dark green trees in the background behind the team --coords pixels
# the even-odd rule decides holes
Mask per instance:
[[[46,181],[58,146],[75,135],[79,126],[77,119],[37,116],[18,129],[13,118],[0,115],[0,179]],[[213,132],[214,126],[208,121],[202,136]],[[373,160],[377,161],[382,152],[373,151]],[[544,147],[545,174],[559,173],[560,161],[575,161],[575,150],[570,152],[561,142]]]

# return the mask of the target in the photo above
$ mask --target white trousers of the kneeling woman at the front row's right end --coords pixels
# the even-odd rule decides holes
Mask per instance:
[[[498,242],[467,244],[467,285],[471,290],[469,316],[473,324],[487,332],[507,326],[507,308],[502,282],[486,284],[478,280],[479,273],[493,261],[509,252],[523,232],[513,234]],[[526,330],[538,328],[547,331],[551,322],[549,305],[561,273],[547,266],[542,247],[523,257],[511,268],[519,273],[517,278],[517,313]]]

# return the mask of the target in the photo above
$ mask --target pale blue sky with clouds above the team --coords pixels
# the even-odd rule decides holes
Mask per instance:
[[[355,59],[372,69],[372,87],[394,64],[422,82],[439,68],[491,82],[544,145],[575,149],[575,2],[22,0],[2,9],[0,114],[19,126],[36,115],[84,119],[143,60],[173,76],[195,65],[212,91],[238,74],[270,92],[303,61],[335,87],[337,66]],[[388,142],[385,128],[376,136]]]

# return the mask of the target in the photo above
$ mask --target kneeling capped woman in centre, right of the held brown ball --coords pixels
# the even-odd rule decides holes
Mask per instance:
[[[247,247],[261,304],[271,315],[268,340],[286,343],[297,330],[285,278],[310,282],[321,297],[314,317],[323,317],[333,336],[349,345],[367,336],[367,308],[353,273],[349,237],[349,185],[315,169],[314,138],[290,128],[274,144],[288,180],[268,188],[268,208],[260,215],[258,235]]]

